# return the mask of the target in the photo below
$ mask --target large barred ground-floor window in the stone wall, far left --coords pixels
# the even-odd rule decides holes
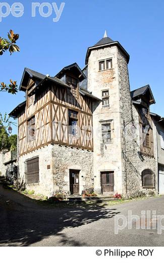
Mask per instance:
[[[27,160],[25,162],[26,184],[39,183],[39,157]]]

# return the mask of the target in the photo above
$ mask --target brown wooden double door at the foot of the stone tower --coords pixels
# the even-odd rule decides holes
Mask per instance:
[[[114,171],[101,172],[102,194],[114,192]]]

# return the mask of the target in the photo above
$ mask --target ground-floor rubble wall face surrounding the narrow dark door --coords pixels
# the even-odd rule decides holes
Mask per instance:
[[[64,191],[66,194],[70,194],[70,169],[80,170],[79,194],[94,186],[93,152],[53,145],[52,161],[54,192]]]

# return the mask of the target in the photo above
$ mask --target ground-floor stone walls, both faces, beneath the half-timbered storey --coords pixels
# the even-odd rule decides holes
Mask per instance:
[[[39,184],[26,185],[37,194],[52,196],[57,192],[70,194],[69,170],[80,170],[79,193],[93,187],[93,153],[91,151],[48,145],[20,157],[20,182],[25,183],[25,161],[39,157]],[[50,169],[47,165],[50,165]]]

